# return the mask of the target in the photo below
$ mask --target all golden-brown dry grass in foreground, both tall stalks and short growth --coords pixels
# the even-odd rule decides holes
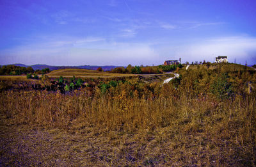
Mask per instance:
[[[4,130],[6,125],[2,123],[1,138],[9,148],[23,145],[19,149],[25,149],[25,155],[15,151],[17,157],[13,157],[11,164],[17,164],[18,158],[23,164],[36,165],[29,159],[37,162],[35,155],[39,153],[45,165],[56,159],[74,166],[253,166],[256,163],[255,97],[238,96],[220,102],[210,98],[179,98],[168,95],[168,90],[168,85],[164,85],[163,96],[155,100],[138,99],[136,95],[128,98],[125,91],[113,98],[98,94],[93,99],[85,91],[70,95],[6,91],[1,93],[0,105],[7,124],[48,130],[26,131],[19,126],[15,129],[20,132],[15,134],[13,130]],[[11,136],[15,137],[15,146],[7,142]],[[18,136],[23,136],[23,144]],[[33,150],[29,151],[29,147]],[[2,150],[2,155],[8,154],[8,150]]]

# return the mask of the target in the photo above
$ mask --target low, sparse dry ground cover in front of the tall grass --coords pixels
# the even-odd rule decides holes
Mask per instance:
[[[0,166],[250,166],[254,156],[204,132],[175,128],[129,133],[73,125],[64,131],[15,125],[1,115],[0,133]]]

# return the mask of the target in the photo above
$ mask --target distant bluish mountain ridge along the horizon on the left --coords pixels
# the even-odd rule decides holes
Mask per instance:
[[[114,66],[114,65],[105,65],[105,66],[97,66],[97,65],[79,65],[79,66],[52,66],[52,65],[24,65],[24,64],[11,64],[19,67],[32,67],[33,70],[42,70],[44,68],[49,68],[52,70],[58,70],[63,68],[81,68],[81,69],[88,69],[88,70],[97,70],[97,68],[101,67],[102,70],[108,71],[116,67],[122,66]]]

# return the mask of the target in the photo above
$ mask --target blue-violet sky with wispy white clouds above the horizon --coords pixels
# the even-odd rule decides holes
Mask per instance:
[[[0,65],[256,64],[256,0],[0,0]]]

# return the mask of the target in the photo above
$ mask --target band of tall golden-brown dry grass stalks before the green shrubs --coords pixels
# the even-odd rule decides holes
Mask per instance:
[[[164,94],[155,99],[127,97],[125,91],[111,96],[86,91],[69,94],[47,91],[3,91],[1,114],[17,123],[67,129],[72,122],[105,131],[140,131],[171,127],[182,133],[203,132],[210,138],[227,139],[237,145],[255,145],[255,97],[234,99],[189,98]]]

